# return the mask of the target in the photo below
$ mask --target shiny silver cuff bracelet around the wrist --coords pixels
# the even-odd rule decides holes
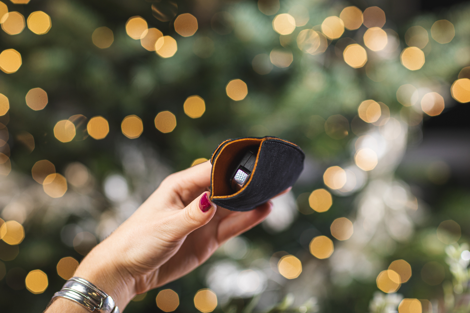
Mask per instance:
[[[54,294],[47,306],[51,305],[56,298],[75,301],[85,306],[90,312],[96,310],[101,313],[119,313],[119,308],[113,298],[83,278],[72,277],[65,282],[62,289]]]

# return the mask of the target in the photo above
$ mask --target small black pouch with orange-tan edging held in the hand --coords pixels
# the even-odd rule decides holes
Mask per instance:
[[[257,151],[254,168],[242,189],[233,191],[230,175],[247,151]],[[249,211],[292,186],[304,168],[305,154],[277,137],[223,141],[212,153],[211,200],[233,211]]]

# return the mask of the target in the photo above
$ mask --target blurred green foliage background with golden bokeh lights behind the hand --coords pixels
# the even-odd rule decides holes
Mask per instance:
[[[266,221],[129,312],[469,312],[470,4],[0,2],[0,311],[42,312],[165,176],[298,144]]]

